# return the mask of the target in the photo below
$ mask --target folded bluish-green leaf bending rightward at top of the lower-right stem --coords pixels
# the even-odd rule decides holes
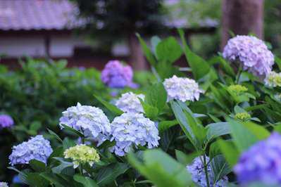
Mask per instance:
[[[208,140],[218,138],[219,136],[223,136],[225,134],[230,134],[230,124],[227,122],[211,123],[205,128],[207,129]]]

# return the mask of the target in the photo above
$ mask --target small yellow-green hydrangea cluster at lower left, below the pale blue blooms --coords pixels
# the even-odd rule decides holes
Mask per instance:
[[[94,162],[99,162],[99,154],[96,153],[94,148],[86,146],[85,144],[77,145],[68,148],[63,153],[65,158],[73,160],[73,167],[76,168],[81,164],[88,163],[91,167]]]

